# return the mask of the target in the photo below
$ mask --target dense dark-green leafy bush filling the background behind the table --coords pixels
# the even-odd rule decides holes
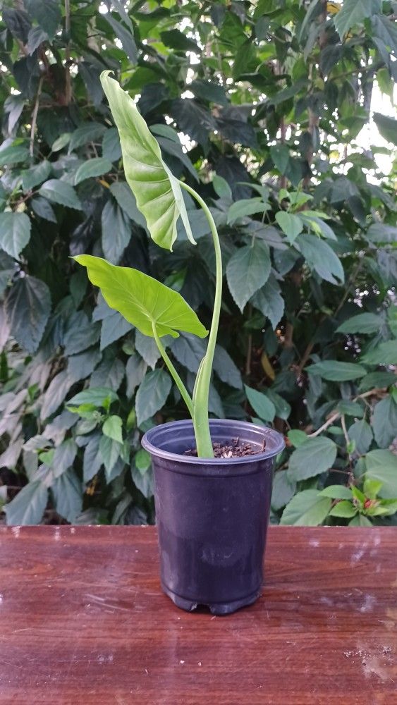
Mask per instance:
[[[107,307],[69,256],[137,267],[181,291],[204,324],[211,316],[207,222],[191,218],[195,248],[183,232],[173,254],[149,241],[99,83],[112,69],[219,226],[211,412],[288,433],[274,522],[396,524],[396,162],[386,176],[375,157],[391,154],[397,121],[371,112],[374,87],[393,95],[396,49],[396,4],[380,0],[4,4],[8,523],[151,522],[140,436],[186,416],[154,343]],[[389,146],[372,129],[360,147],[366,125]],[[168,343],[191,387],[202,341]]]

